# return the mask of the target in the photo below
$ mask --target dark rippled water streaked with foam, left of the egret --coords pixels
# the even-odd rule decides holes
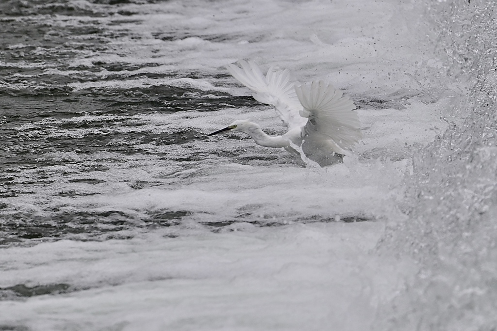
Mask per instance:
[[[178,163],[204,158],[155,149],[202,138],[205,132],[161,132],[150,116],[259,105],[251,97],[162,84],[205,73],[172,66],[149,70],[167,60],[160,55],[157,62],[153,57],[143,61],[140,54],[130,57],[123,39],[136,43],[141,38],[128,30],[130,24],[141,24],[140,18],[129,19],[133,12],[123,7],[132,2],[31,0],[0,5],[0,243],[67,234],[84,239],[136,225],[174,224],[184,216],[181,212],[150,212],[138,224],[121,211],[64,210],[68,202],[53,199],[95,195],[107,182],[126,181],[106,178],[110,167],[135,167],[150,157]],[[166,38],[159,30],[149,32],[157,40]],[[177,33],[166,39],[184,37]],[[115,62],[101,59],[110,54]],[[128,184],[135,189],[154,185]]]

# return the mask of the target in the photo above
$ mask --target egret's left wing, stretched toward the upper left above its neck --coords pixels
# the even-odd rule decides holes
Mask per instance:
[[[270,67],[264,77],[259,67],[252,61],[238,61],[239,66],[228,65],[228,71],[242,84],[252,90],[255,100],[274,106],[288,129],[302,127],[307,120],[299,115],[302,105],[295,93],[295,81],[288,69]]]

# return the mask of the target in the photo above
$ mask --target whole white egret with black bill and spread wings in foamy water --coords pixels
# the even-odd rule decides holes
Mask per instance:
[[[274,106],[288,131],[271,136],[249,120],[237,120],[208,136],[244,132],[258,145],[283,147],[296,155],[304,153],[322,167],[341,162],[342,155],[336,154],[344,154],[362,137],[353,101],[331,84],[321,80],[301,84],[291,78],[288,69],[273,66],[264,77],[253,62],[238,64],[228,65],[228,71],[252,91],[255,100]]]

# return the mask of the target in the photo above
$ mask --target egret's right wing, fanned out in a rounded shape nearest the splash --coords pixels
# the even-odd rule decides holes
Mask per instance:
[[[314,141],[331,139],[344,150],[349,150],[362,137],[357,113],[353,111],[356,107],[343,92],[324,81],[313,81],[310,85],[297,83],[295,91],[304,108],[301,115],[309,119],[305,136]]]

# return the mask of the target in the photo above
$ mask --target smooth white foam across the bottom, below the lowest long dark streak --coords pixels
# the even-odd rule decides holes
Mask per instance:
[[[250,330],[275,324],[315,330],[340,320],[367,286],[349,259],[357,261],[372,248],[378,230],[371,223],[300,224],[12,248],[7,261],[0,258],[4,283],[93,289],[8,306],[2,301],[2,311],[8,310],[2,322],[24,321],[32,330],[117,325],[123,330],[244,330],[245,324]]]

